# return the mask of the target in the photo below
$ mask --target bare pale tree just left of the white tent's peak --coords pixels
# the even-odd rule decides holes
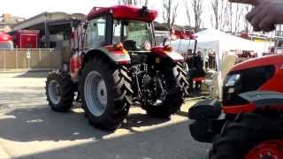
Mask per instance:
[[[203,0],[192,0],[191,3],[195,16],[195,32],[197,32],[202,25]]]

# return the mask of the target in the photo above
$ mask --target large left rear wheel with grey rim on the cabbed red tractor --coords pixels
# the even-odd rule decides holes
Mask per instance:
[[[106,57],[89,59],[81,71],[82,108],[91,125],[117,129],[128,114],[134,91],[126,67]]]

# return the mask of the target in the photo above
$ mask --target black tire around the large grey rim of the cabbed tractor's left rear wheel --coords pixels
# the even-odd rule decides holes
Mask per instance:
[[[86,102],[85,83],[88,73],[98,72],[104,80],[107,89],[106,108],[101,115],[95,115]],[[91,125],[103,130],[119,128],[128,114],[132,104],[134,91],[131,87],[132,79],[127,75],[127,68],[112,64],[106,57],[93,57],[89,59],[81,71],[80,93],[82,95],[82,108]]]

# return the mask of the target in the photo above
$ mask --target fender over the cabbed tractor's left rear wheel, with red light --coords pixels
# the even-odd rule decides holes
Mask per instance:
[[[88,60],[88,57],[95,56],[96,54],[109,57],[114,64],[131,64],[131,57],[127,52],[109,51],[106,48],[88,50],[86,56],[84,57],[84,61],[85,59]]]

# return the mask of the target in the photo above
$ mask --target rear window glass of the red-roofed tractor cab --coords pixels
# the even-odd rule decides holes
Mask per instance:
[[[113,44],[123,42],[128,50],[147,50],[153,42],[152,26],[144,21],[114,20]]]

